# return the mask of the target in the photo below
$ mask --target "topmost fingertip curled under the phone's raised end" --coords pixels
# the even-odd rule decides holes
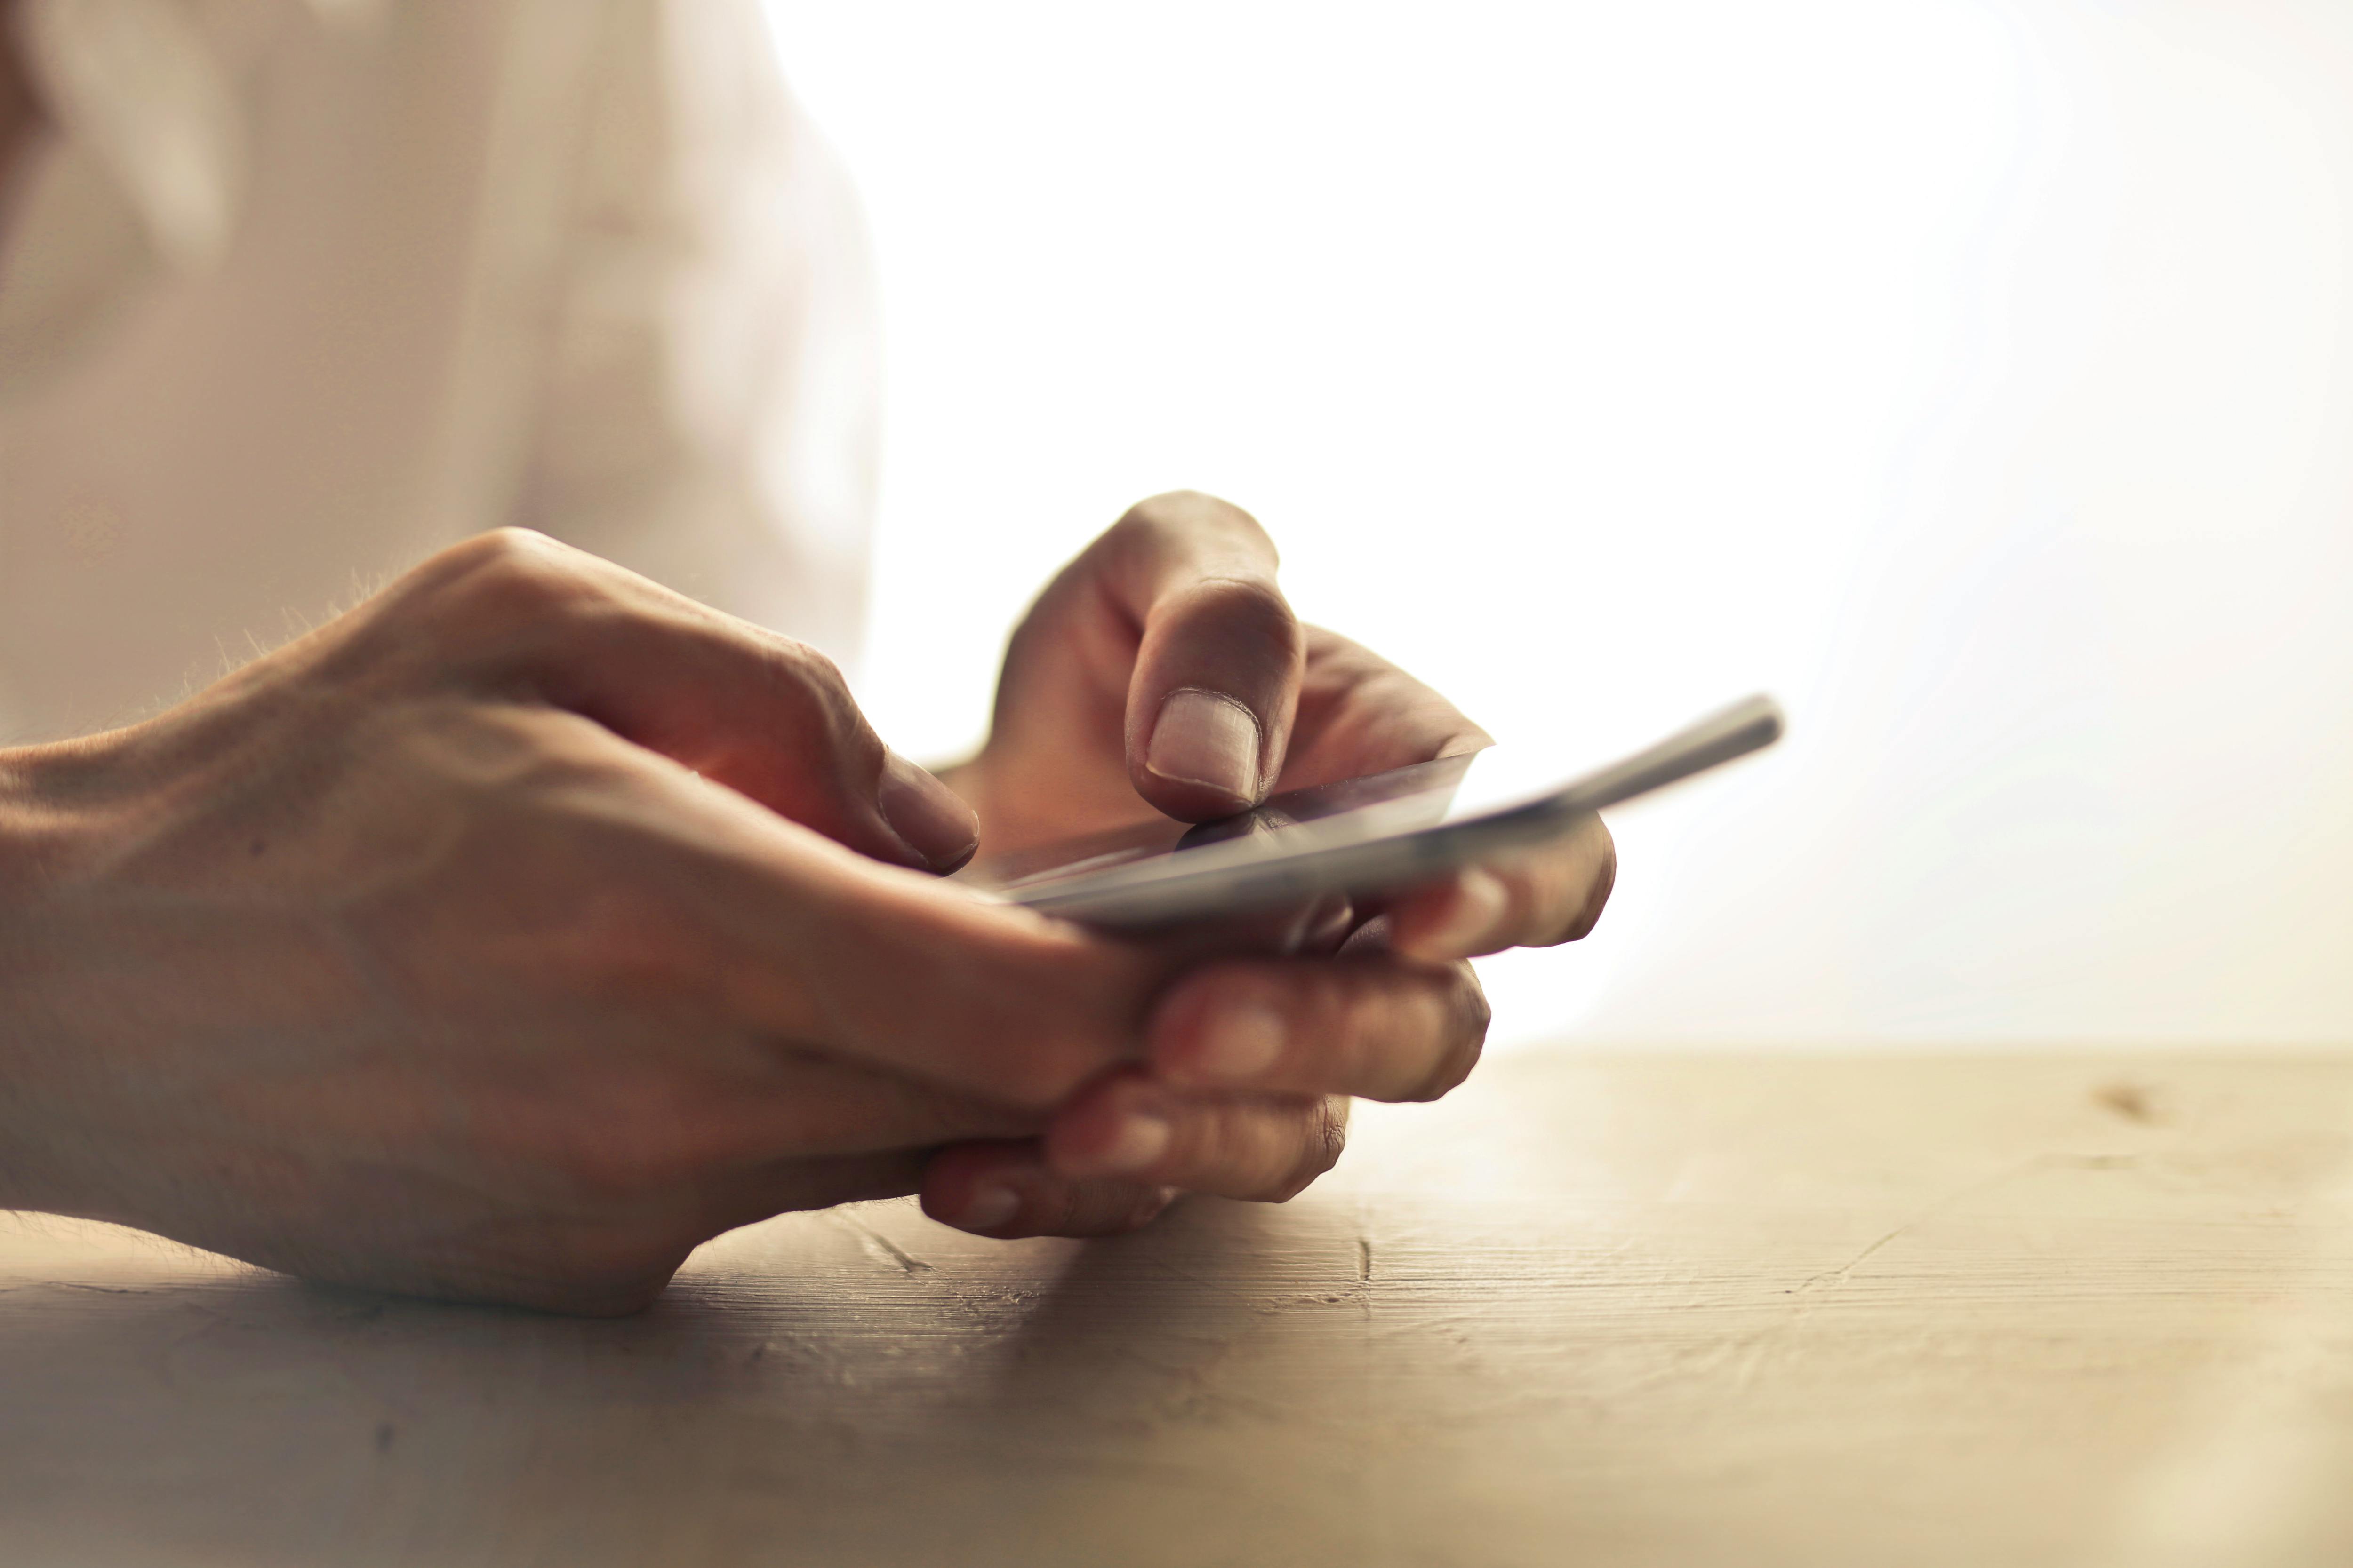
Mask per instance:
[[[1574,943],[1600,922],[1614,884],[1617,844],[1586,816],[1534,851],[1388,898],[1388,940],[1431,961]]]

